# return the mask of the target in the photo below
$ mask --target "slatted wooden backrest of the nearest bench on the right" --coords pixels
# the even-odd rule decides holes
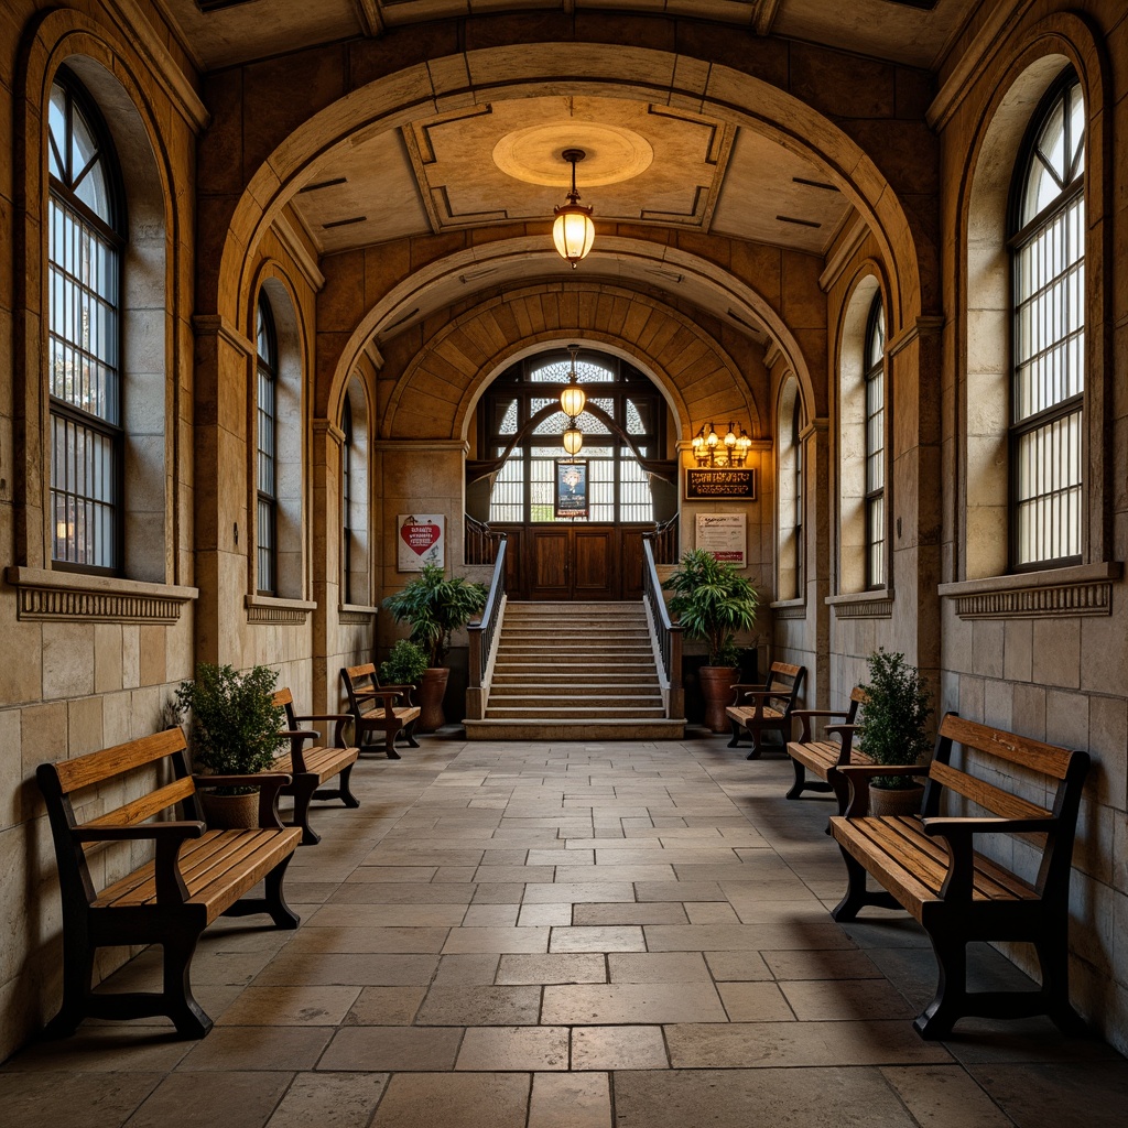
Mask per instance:
[[[952,765],[955,744],[964,748],[964,769]],[[1047,796],[1052,795],[1050,805],[1041,807],[973,774],[976,767],[984,774],[996,770],[996,764],[980,764],[982,757],[1002,760],[1004,770],[1010,766],[1007,774],[1015,774],[1013,769],[1019,768],[1024,774],[1043,777]],[[922,811],[926,818],[943,813],[941,800],[943,793],[950,791],[998,818],[1054,818],[1054,831],[1016,836],[1042,851],[1036,888],[1045,895],[1055,884],[1068,882],[1077,811],[1087,770],[1087,752],[1043,744],[1039,740],[966,721],[958,713],[945,713],[936,737]]]

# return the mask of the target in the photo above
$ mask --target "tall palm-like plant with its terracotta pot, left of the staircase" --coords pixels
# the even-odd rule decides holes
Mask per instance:
[[[485,605],[485,584],[461,576],[448,580],[437,564],[425,564],[403,591],[385,599],[384,606],[391,617],[396,623],[411,625],[411,641],[426,654],[428,668],[418,684],[420,732],[434,732],[446,721],[442,698],[450,669],[442,663],[450,651],[451,635]]]

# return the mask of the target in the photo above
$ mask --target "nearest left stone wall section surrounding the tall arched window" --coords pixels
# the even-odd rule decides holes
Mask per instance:
[[[206,112],[175,39],[118,11],[10,0],[0,15],[0,1059],[60,998],[61,909],[35,768],[158,730],[194,662],[193,196]],[[50,564],[42,115],[62,63],[106,118],[129,203],[120,578]],[[99,792],[90,813],[126,797]],[[142,860],[109,849],[96,873],[111,880]],[[96,976],[127,954],[99,952]]]

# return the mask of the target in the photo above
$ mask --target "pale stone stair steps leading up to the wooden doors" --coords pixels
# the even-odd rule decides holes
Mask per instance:
[[[505,607],[485,719],[470,740],[671,740],[642,602]]]

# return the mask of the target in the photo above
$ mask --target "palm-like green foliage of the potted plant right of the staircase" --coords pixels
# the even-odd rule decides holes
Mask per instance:
[[[737,632],[752,629],[759,608],[751,580],[711,552],[694,548],[681,557],[678,571],[662,587],[675,592],[670,610],[678,616],[686,635],[708,645],[708,664],[735,667]]]

